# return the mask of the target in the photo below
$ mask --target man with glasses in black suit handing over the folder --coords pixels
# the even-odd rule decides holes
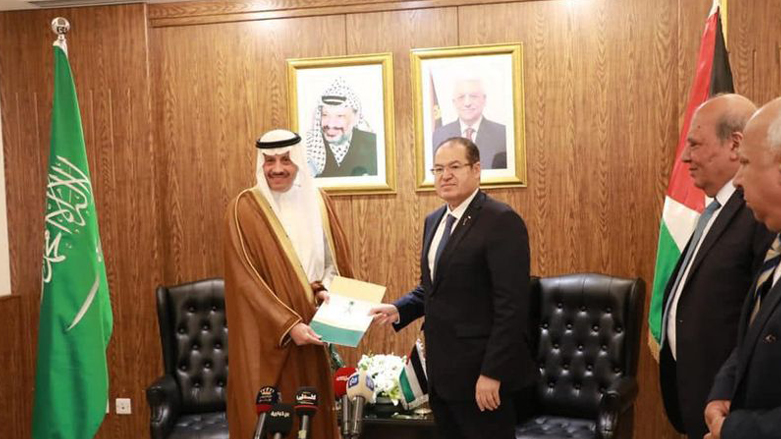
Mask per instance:
[[[526,226],[479,190],[474,142],[446,140],[432,171],[446,205],[426,218],[420,284],[372,313],[397,331],[425,315],[429,402],[440,437],[511,439],[511,395],[537,377],[526,333]]]

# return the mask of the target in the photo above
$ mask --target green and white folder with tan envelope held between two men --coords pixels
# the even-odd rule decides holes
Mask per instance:
[[[385,287],[336,276],[330,300],[320,306],[309,326],[328,343],[356,347],[369,329],[369,310],[382,302]]]

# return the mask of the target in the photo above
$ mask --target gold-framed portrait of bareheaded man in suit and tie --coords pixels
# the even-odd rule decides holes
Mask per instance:
[[[522,45],[414,49],[411,56],[417,189],[433,189],[434,153],[451,137],[477,144],[481,186],[525,186]]]

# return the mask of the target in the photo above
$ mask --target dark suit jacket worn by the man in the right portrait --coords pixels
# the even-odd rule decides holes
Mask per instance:
[[[461,125],[458,119],[434,130],[433,153],[437,146],[451,137],[461,137]],[[475,139],[480,150],[480,164],[483,169],[507,168],[507,129],[504,125],[483,118]],[[433,163],[433,162],[432,162]]]

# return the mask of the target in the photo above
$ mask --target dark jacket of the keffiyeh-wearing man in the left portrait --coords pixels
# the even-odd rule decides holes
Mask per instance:
[[[350,149],[342,163],[336,164],[333,152],[325,142],[325,168],[318,177],[355,177],[360,175],[377,175],[377,135],[368,131],[353,128]]]

